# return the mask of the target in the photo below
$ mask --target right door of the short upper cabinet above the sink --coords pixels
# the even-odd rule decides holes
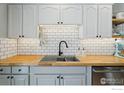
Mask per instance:
[[[81,5],[61,5],[61,24],[82,24]]]

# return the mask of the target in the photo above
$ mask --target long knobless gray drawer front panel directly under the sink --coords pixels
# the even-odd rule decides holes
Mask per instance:
[[[85,74],[86,67],[31,67],[34,74]]]

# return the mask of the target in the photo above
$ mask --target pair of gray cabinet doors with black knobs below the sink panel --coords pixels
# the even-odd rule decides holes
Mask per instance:
[[[85,85],[84,75],[31,75],[31,85]]]

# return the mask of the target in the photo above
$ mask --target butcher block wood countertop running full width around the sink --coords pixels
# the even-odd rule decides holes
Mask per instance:
[[[79,62],[43,62],[43,55],[17,55],[0,60],[0,66],[124,66],[124,58],[114,56],[77,56]]]

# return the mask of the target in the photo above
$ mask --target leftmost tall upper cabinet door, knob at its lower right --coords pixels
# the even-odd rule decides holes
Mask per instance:
[[[8,37],[22,35],[22,5],[8,5]]]

